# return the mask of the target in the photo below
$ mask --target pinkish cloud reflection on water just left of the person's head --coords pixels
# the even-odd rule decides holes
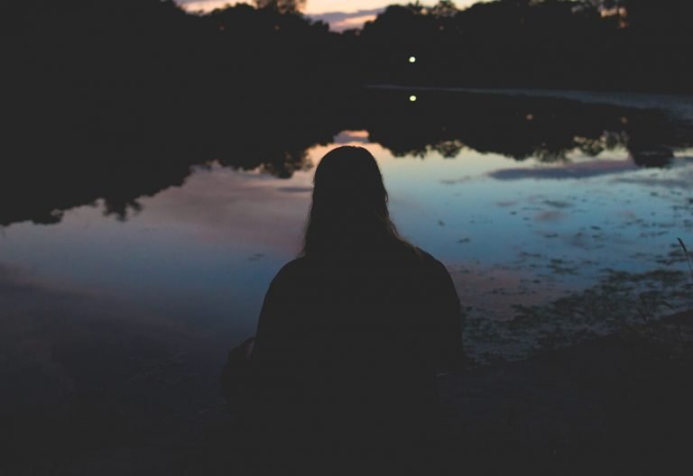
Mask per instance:
[[[297,252],[310,205],[310,176],[301,173],[293,185],[247,177],[224,168],[198,169],[185,187],[143,199],[148,224],[176,223],[207,245],[254,251],[262,243],[282,254]]]

